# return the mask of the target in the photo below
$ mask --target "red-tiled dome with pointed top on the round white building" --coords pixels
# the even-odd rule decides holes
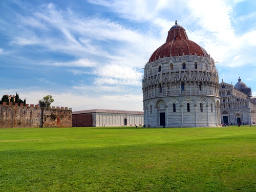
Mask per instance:
[[[150,57],[149,62],[158,58],[179,56],[179,55],[198,55],[209,57],[208,53],[200,47],[196,42],[188,39],[186,30],[176,24],[170,28],[165,44],[160,46]]]

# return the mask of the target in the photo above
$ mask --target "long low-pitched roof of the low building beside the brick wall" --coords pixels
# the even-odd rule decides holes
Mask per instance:
[[[83,114],[83,113],[117,113],[117,114],[134,114],[134,115],[143,115],[144,114],[143,111],[123,111],[123,110],[95,109],[95,110],[73,111],[72,115]]]

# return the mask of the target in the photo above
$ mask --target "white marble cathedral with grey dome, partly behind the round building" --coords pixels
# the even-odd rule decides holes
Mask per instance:
[[[248,88],[239,77],[233,86],[226,82],[220,83],[221,122],[223,123],[255,123],[256,97],[251,96]]]

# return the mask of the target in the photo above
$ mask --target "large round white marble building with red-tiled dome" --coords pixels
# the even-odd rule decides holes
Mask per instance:
[[[220,126],[219,76],[214,59],[177,24],[146,63],[144,124],[153,127]]]

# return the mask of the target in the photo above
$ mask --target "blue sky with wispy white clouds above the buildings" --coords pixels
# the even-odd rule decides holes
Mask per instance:
[[[256,95],[256,1],[0,2],[0,94],[73,111],[142,111],[142,68],[178,20],[218,61],[219,79]]]

